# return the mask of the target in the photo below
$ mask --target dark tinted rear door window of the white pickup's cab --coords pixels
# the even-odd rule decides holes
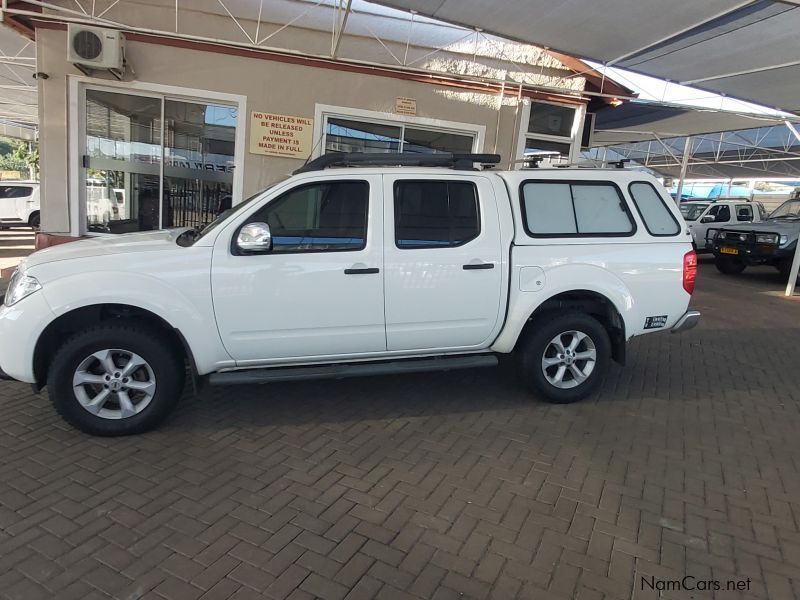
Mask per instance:
[[[481,232],[478,193],[466,181],[397,181],[394,235],[400,249],[449,248]]]

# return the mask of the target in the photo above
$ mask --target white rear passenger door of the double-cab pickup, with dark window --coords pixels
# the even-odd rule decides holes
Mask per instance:
[[[500,223],[481,176],[384,175],[389,351],[472,349],[500,312]]]

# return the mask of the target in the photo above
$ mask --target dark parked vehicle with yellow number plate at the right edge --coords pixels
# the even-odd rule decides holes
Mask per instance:
[[[788,278],[800,234],[800,193],[776,208],[761,223],[724,227],[713,239],[714,264],[737,275],[749,266],[770,265]]]

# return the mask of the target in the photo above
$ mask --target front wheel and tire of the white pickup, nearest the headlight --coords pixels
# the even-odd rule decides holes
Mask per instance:
[[[114,321],[85,329],[56,350],[47,387],[70,425],[119,436],[161,423],[178,402],[185,376],[182,354],[157,329]]]

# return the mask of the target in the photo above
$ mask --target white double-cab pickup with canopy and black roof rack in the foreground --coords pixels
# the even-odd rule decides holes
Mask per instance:
[[[202,232],[36,252],[0,308],[0,373],[121,435],[159,423],[187,369],[267,383],[514,353],[538,395],[572,402],[631,337],[697,323],[691,236],[655,179],[473,168],[498,160],[326,155]]]

